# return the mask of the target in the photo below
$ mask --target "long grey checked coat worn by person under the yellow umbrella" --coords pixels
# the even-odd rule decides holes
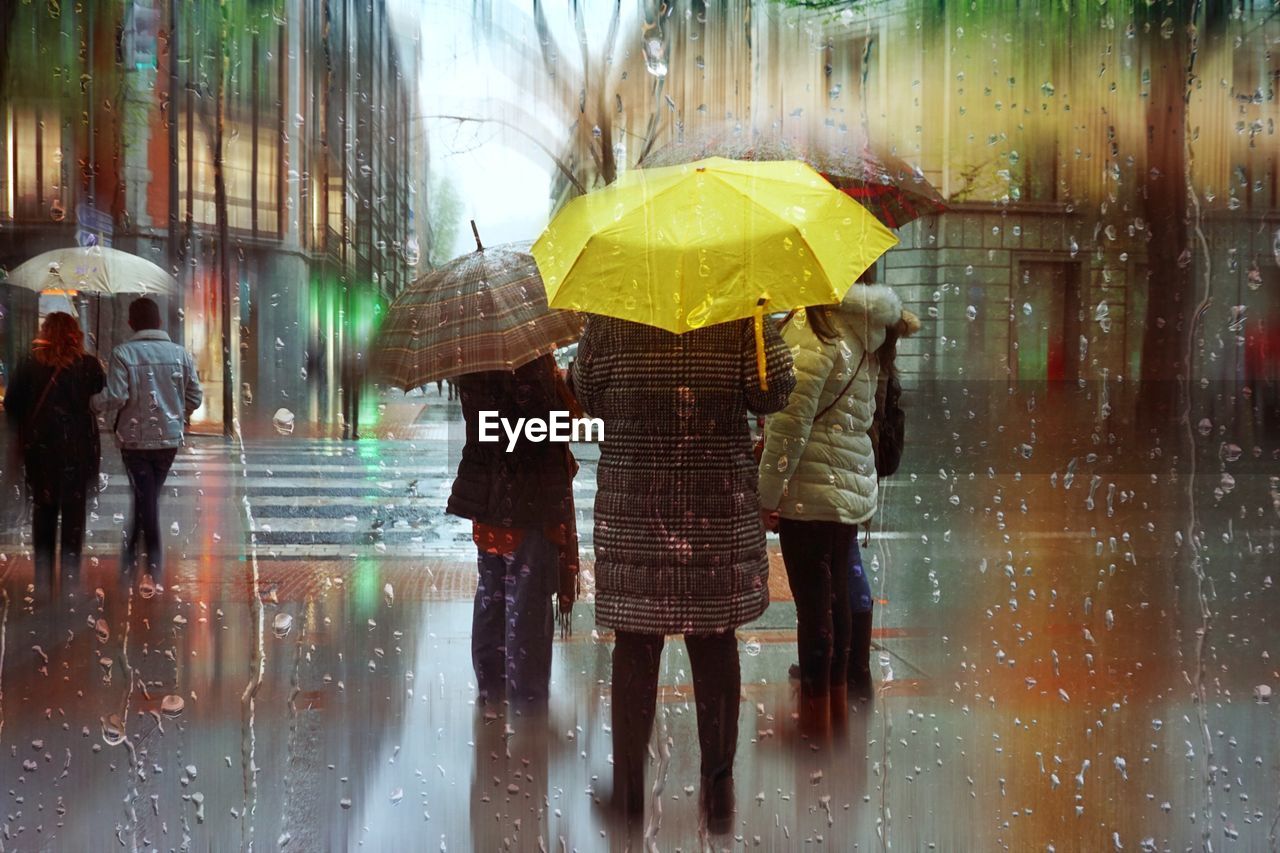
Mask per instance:
[[[791,353],[765,324],[768,391],[750,320],[672,334],[591,316],[573,392],[604,421],[595,493],[595,619],[707,634],[756,619],[769,560],[748,411],[781,410]]]

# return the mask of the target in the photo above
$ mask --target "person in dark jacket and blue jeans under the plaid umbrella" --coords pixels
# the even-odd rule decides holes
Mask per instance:
[[[448,512],[471,519],[477,549],[471,662],[479,701],[536,706],[550,686],[554,603],[567,630],[577,592],[577,462],[568,444],[524,433],[511,452],[506,435],[481,442],[480,412],[547,420],[570,405],[567,391],[550,356],[513,371],[470,373],[456,384],[467,438]]]

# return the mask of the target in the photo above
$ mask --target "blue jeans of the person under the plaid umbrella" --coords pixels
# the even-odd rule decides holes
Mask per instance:
[[[471,663],[483,703],[547,699],[559,547],[525,530],[515,553],[479,552]]]

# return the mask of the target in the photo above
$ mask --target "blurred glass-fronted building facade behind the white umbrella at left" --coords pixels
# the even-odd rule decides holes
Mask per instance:
[[[197,423],[283,409],[358,432],[369,339],[420,251],[417,58],[388,4],[8,5],[0,266],[95,241],[147,257],[179,283],[164,307],[206,386]],[[12,364],[38,307],[0,289]],[[102,352],[127,334],[128,297],[73,302]]]

